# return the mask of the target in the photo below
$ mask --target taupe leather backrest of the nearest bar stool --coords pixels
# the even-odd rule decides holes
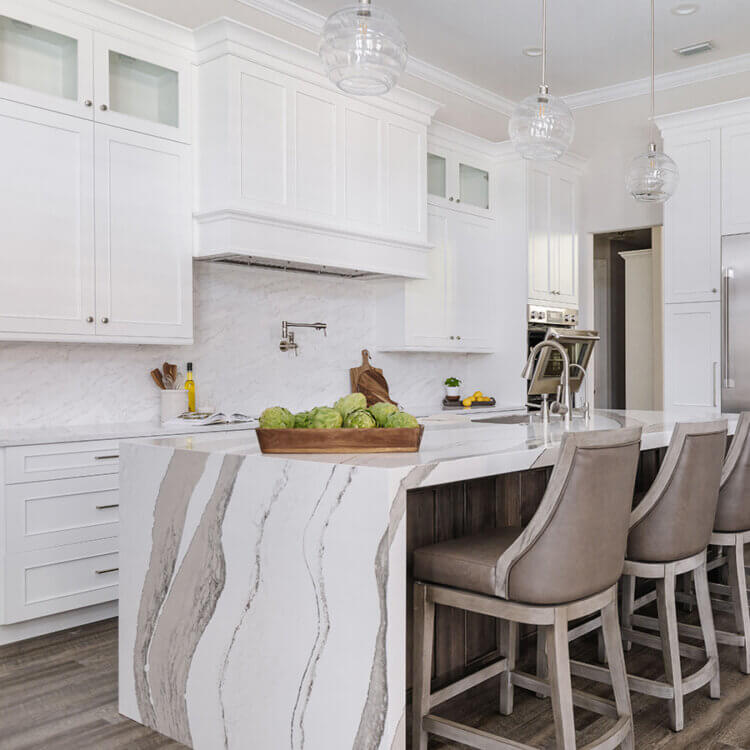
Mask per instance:
[[[617,582],[640,439],[640,427],[564,436],[537,512],[498,560],[499,596],[559,604]]]

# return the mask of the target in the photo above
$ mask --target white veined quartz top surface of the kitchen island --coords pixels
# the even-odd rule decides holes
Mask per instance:
[[[431,484],[523,471],[550,466],[555,462],[564,432],[561,419],[553,418],[548,425],[544,425],[536,415],[532,417],[516,412],[495,415],[508,421],[516,421],[515,424],[476,421],[491,416],[440,414],[421,419],[420,422],[425,425],[425,433],[418,453],[269,455],[263,456],[263,459],[393,470],[430,466]],[[729,433],[732,434],[737,415],[725,417],[729,423]],[[591,431],[640,425],[643,427],[642,446],[644,450],[648,450],[666,446],[677,421],[705,421],[715,418],[705,415],[677,417],[653,411],[594,410],[590,421],[574,418],[569,429]],[[260,455],[255,433],[236,437],[206,435],[190,440],[173,437],[141,441],[141,444],[144,443],[198,453]]]

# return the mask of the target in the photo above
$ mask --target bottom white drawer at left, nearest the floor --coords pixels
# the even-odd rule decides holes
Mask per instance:
[[[117,599],[118,564],[116,538],[6,555],[3,622]]]

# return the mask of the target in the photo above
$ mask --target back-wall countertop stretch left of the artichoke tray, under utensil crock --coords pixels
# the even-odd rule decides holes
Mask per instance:
[[[0,448],[45,443],[76,443],[83,440],[122,440],[141,437],[168,437],[201,433],[254,430],[257,422],[244,424],[218,424],[200,427],[186,424],[162,427],[158,422],[113,422],[96,425],[70,425],[53,427],[19,427],[0,429]]]

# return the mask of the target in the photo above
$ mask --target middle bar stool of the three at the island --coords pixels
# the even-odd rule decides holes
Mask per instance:
[[[630,518],[628,550],[623,569],[622,638],[625,650],[639,643],[661,650],[666,682],[628,676],[630,689],[669,702],[674,731],[684,727],[684,696],[705,684],[720,697],[719,659],[706,575],[706,548],[711,539],[726,447],[726,420],[678,423],[653,485]],[[680,644],[676,608],[676,576],[691,573],[705,651]],[[635,599],[636,578],[656,581],[656,591]],[[658,619],[634,614],[656,600]],[[661,638],[636,630],[658,630]],[[683,630],[684,632],[684,630]],[[705,661],[683,678],[680,655]],[[596,669],[596,668],[594,668]],[[601,668],[598,668],[601,670]],[[599,673],[607,681],[604,670]],[[597,679],[589,670],[578,674]]]

